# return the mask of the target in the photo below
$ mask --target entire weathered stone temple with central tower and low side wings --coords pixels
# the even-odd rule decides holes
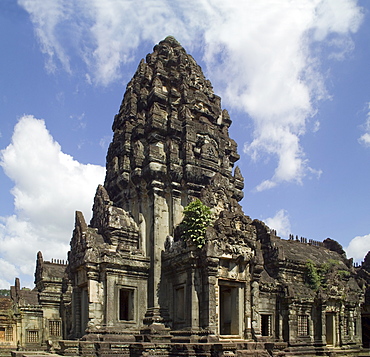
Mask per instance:
[[[246,216],[230,124],[184,48],[156,45],[127,85],[68,261],[39,252],[35,288],[16,279],[0,298],[3,355],[369,355],[370,254],[353,266],[332,239],[281,239]],[[196,199],[212,212],[200,245],[181,233]]]

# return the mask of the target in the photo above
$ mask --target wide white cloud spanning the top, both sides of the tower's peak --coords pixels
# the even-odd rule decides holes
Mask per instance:
[[[275,172],[258,191],[320,174],[309,167],[300,143],[315,104],[328,97],[314,55],[320,51],[312,48],[326,46],[329,58],[345,58],[353,48],[350,35],[363,17],[356,0],[18,3],[31,16],[48,68],[59,61],[71,71],[69,54],[77,53],[86,64],[85,78],[95,84],[120,78],[143,42],[174,35],[188,50],[202,53],[226,104],[252,118],[253,135],[244,152],[253,160],[276,160]],[[72,31],[67,44],[66,33]],[[362,138],[367,140],[368,133]]]

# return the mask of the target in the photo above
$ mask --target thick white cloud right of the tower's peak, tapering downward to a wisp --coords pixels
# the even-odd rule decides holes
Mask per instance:
[[[244,151],[254,160],[277,158],[274,175],[257,190],[283,181],[301,183],[312,170],[300,137],[316,113],[315,102],[328,98],[311,46],[335,34],[337,51],[342,44],[347,51],[348,35],[357,30],[361,12],[353,1],[339,6],[333,1],[228,4],[229,17],[223,20],[220,11],[206,31],[205,58],[209,72],[226,87],[225,98],[254,121],[254,138]]]

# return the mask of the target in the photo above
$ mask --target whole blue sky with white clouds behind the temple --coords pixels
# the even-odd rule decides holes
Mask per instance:
[[[141,58],[173,35],[222,97],[244,212],[370,250],[370,2],[0,1],[0,287],[66,259]]]

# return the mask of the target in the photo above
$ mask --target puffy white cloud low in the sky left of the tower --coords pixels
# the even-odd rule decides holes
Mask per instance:
[[[45,122],[23,116],[11,144],[1,151],[0,165],[14,182],[15,214],[0,217],[0,284],[23,275],[31,285],[36,253],[65,259],[74,211],[91,216],[92,200],[105,169],[84,165],[61,151]]]

